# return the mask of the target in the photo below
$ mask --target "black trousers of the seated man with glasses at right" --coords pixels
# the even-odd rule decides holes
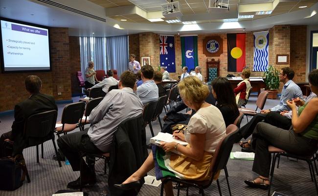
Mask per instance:
[[[265,123],[269,123],[273,126],[277,126],[279,128],[287,130],[292,125],[291,119],[283,117],[278,112],[269,112],[267,114],[256,114],[249,123],[240,128],[240,133],[245,139],[247,139],[253,133],[256,124],[262,122],[263,120]]]

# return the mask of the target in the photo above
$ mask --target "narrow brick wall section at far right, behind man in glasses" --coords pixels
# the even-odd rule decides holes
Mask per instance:
[[[290,67],[295,71],[297,82],[306,80],[306,33],[306,25],[291,26]]]

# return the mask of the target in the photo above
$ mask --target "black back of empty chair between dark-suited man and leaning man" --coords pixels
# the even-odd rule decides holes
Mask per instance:
[[[62,113],[62,124],[76,124],[83,118],[85,102],[79,101],[66,105]]]

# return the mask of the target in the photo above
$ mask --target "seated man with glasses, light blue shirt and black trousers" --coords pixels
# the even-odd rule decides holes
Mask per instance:
[[[302,98],[302,92],[299,86],[292,80],[294,75],[294,70],[289,67],[284,67],[280,70],[279,81],[284,83],[284,86],[278,105],[271,109],[262,110],[260,114],[256,114],[249,123],[240,128],[240,133],[245,139],[252,134],[257,123],[265,120],[265,117],[269,112],[283,112],[285,110],[290,110],[286,101],[292,98]],[[244,144],[243,147],[245,147]]]

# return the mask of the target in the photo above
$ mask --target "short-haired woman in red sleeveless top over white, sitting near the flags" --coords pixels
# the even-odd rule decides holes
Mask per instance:
[[[237,87],[234,89],[237,107],[245,105],[248,101],[250,90],[250,70],[244,69],[241,73],[241,77],[243,78],[243,81],[238,83]]]

